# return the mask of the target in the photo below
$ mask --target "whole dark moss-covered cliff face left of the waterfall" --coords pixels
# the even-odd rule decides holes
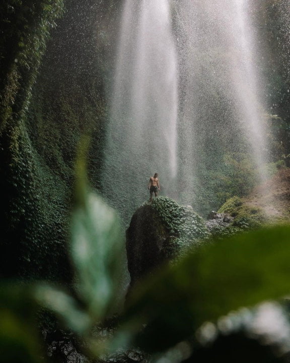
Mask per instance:
[[[0,10],[0,275],[69,281],[74,160],[90,134],[98,188],[115,2],[11,0]]]

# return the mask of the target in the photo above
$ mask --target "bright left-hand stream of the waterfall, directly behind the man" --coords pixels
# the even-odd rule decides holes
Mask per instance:
[[[107,130],[103,190],[124,216],[176,174],[177,57],[168,0],[126,0]]]

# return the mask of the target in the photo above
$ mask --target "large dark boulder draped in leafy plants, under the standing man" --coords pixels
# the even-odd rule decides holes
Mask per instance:
[[[166,197],[143,204],[126,231],[131,286],[166,261],[175,260],[208,235],[205,223],[191,207]]]

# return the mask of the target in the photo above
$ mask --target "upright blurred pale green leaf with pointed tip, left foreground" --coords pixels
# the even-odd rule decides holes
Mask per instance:
[[[80,297],[94,320],[112,313],[120,298],[121,250],[124,230],[119,217],[86,181],[88,139],[77,161],[76,207],[71,223],[71,257],[76,267]]]

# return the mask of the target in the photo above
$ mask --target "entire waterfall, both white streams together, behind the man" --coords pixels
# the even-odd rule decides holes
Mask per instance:
[[[244,145],[262,170],[249,10],[247,0],[125,1],[103,190],[127,219],[148,199],[155,172],[165,195],[191,203],[201,163],[221,150]]]

